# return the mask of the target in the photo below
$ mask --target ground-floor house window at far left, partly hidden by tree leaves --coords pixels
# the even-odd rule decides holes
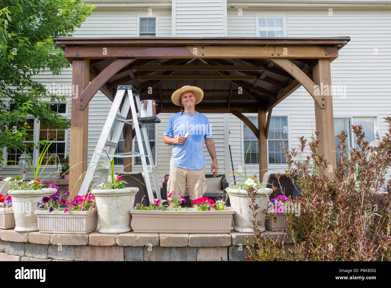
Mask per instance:
[[[10,110],[14,108],[14,104],[11,104]],[[50,104],[49,109],[57,112],[58,114],[63,116],[63,118],[66,118],[66,103]],[[30,154],[33,164],[37,165],[34,159],[34,151],[36,151],[38,155],[41,152],[41,149],[43,149],[43,147],[45,146],[39,145],[39,149],[36,149],[37,145],[39,144],[39,141],[49,140],[50,142],[52,142],[52,140],[55,140],[50,145],[49,149],[47,150],[47,153],[43,157],[42,164],[56,165],[56,155],[58,156],[58,158],[65,157],[66,131],[54,129],[50,125],[43,125],[43,123],[39,122],[34,118],[28,118],[26,119],[26,122],[28,125],[28,128],[26,129],[28,135],[25,137],[23,143],[30,143],[26,150],[26,154]],[[8,151],[9,152],[7,153],[7,161],[11,162],[7,162],[7,165],[17,166],[19,161],[18,158],[22,155],[22,152],[19,149],[11,149]]]

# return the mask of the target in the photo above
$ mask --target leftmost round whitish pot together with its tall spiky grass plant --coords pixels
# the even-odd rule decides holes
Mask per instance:
[[[54,140],[53,140],[54,141]],[[39,178],[43,171],[40,171],[43,159],[46,157],[46,153],[50,145],[53,143],[45,141],[45,145],[41,154],[38,157],[37,168],[34,168],[30,159],[28,158],[29,165],[32,168],[33,181],[19,180],[17,183],[9,183],[10,195],[13,201],[13,210],[15,217],[15,231],[18,232],[33,232],[38,231],[37,216],[34,214],[36,210],[41,208],[37,207],[34,203],[43,202],[43,197],[48,197],[54,194],[57,190],[52,188],[48,183],[43,183]],[[17,147],[16,147],[17,148]],[[22,152],[25,155],[24,152]],[[25,155],[26,156],[26,155]],[[53,155],[50,155],[49,159]],[[46,162],[47,163],[47,162]],[[45,165],[46,166],[46,165]]]

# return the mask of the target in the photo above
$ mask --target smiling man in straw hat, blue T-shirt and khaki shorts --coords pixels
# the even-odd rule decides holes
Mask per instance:
[[[202,197],[206,191],[204,140],[212,157],[210,172],[215,176],[219,170],[209,120],[194,108],[203,97],[202,89],[195,86],[183,86],[172,93],[171,100],[181,106],[181,112],[171,115],[163,135],[164,143],[174,145],[167,194],[172,193],[172,197],[178,198],[179,193],[185,191],[187,181],[191,206],[193,200]]]

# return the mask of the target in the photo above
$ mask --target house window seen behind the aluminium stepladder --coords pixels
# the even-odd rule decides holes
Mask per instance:
[[[114,135],[114,130],[115,130],[115,126],[117,125],[117,121],[114,121],[114,124],[113,124],[113,127],[111,127],[111,138],[113,137]],[[151,146],[151,152],[152,152],[152,157],[153,157],[153,161],[156,165],[156,149],[155,149],[155,142],[156,142],[156,124],[154,123],[147,123],[145,124],[145,128],[147,129],[147,134],[148,134],[148,139],[149,139],[149,145]],[[143,147],[144,147],[144,152],[145,152],[145,155],[147,154],[147,148],[145,147],[145,141],[144,141],[144,136],[143,136],[143,132],[142,130],[140,129],[140,134],[141,134],[141,138],[143,139]],[[120,139],[118,141],[118,146],[117,146],[117,149],[115,150],[115,153],[124,153],[124,135],[122,134],[121,132],[121,136],[120,136]],[[136,140],[136,136],[135,138],[133,138],[133,151],[135,152],[140,152],[140,150],[138,149],[138,145],[137,145],[137,140]],[[149,165],[149,159],[146,158],[147,160],[147,165]],[[132,160],[132,163],[134,163],[135,166],[140,166],[142,165],[141,163],[141,158],[140,157],[133,157],[133,160]],[[124,158],[117,158],[117,157],[114,157],[114,164],[115,165],[124,165]]]

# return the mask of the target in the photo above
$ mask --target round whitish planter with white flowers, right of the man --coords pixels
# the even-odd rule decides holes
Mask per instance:
[[[249,178],[244,177],[244,179],[246,180],[239,180],[239,182],[242,181],[244,183],[237,183],[235,186],[226,188],[230,197],[231,208],[235,211],[235,214],[233,214],[233,230],[244,233],[253,232],[251,229],[251,220],[253,219],[253,216],[249,207],[251,199],[248,193],[249,187],[254,187],[257,189],[257,193],[255,195],[255,203],[258,205],[257,220],[261,223],[259,229],[264,232],[266,215],[263,211],[267,209],[269,195],[272,194],[273,190],[271,188],[262,187],[262,183],[256,179],[255,175]]]

